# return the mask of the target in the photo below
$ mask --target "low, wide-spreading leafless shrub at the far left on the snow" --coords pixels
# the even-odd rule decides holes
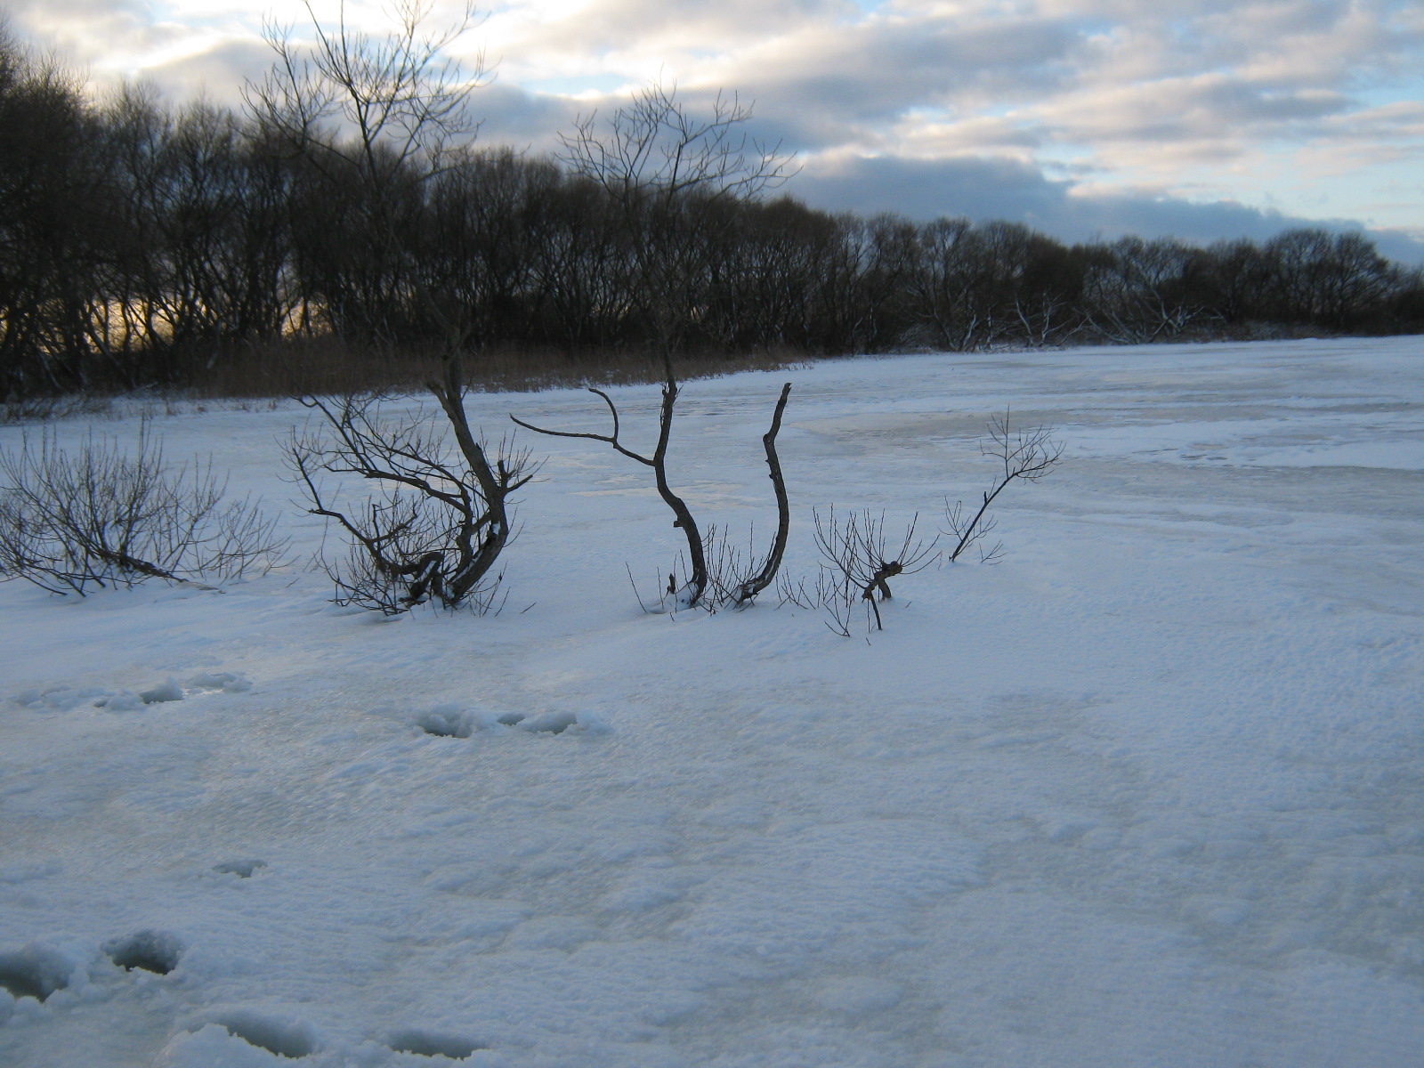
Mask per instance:
[[[75,450],[27,439],[0,451],[0,578],[56,594],[234,581],[265,574],[286,547],[253,501],[224,501],[211,463],[171,468],[147,426],[132,456],[93,437]]]

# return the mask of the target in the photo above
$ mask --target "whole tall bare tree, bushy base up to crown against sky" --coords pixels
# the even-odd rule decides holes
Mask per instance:
[[[530,456],[513,447],[501,444],[491,460],[470,427],[463,359],[473,319],[463,300],[437,292],[410,266],[416,246],[402,226],[409,192],[426,198],[430,182],[447,167],[470,159],[454,148],[478,128],[466,105],[480,84],[483,57],[466,71],[444,58],[444,50],[470,28],[474,9],[466,6],[453,24],[427,31],[431,0],[396,0],[396,28],[376,37],[346,26],[345,4],[337,26],[328,28],[309,0],[303,3],[315,48],[300,53],[289,28],[269,24],[266,38],[276,64],[265,81],[248,83],[248,107],[322,174],[356,175],[377,266],[389,266],[397,292],[413,290],[441,337],[441,373],[427,389],[450,424],[456,451],[419,427],[382,422],[379,397],[347,396],[336,404],[303,400],[325,419],[330,436],[295,440],[289,456],[313,511],[336,520],[355,540],[355,560],[369,561],[369,581],[359,585],[403,590],[353,600],[383,611],[427,597],[459,605],[480,588],[508,544],[508,497],[533,473]],[[404,486],[416,497],[387,496],[356,521],[323,504],[310,477],[318,470]],[[453,517],[436,518],[441,510]]]

